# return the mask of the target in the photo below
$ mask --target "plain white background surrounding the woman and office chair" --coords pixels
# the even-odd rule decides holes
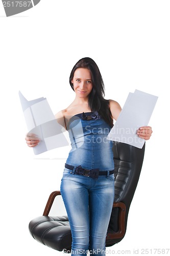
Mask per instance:
[[[70,71],[86,56],[101,70],[107,99],[123,106],[135,89],[159,97],[126,236],[108,250],[169,248],[169,11],[169,1],[41,0],[6,17],[0,5],[3,255],[63,255],[36,242],[28,224],[59,189],[69,148],[33,154],[18,91],[28,100],[46,97],[54,113],[66,108],[74,99]]]

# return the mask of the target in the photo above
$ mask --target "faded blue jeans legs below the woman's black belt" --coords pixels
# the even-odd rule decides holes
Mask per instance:
[[[87,255],[89,250],[91,255],[103,256],[114,200],[114,175],[93,179],[70,172],[64,168],[60,190],[71,228],[71,255]]]

